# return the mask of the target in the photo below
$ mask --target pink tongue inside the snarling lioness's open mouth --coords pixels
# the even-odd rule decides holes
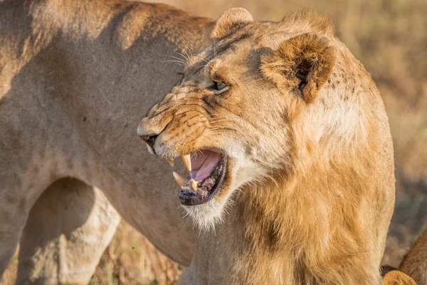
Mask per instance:
[[[194,180],[201,181],[211,176],[221,162],[221,155],[211,150],[202,150],[191,157],[190,176]]]

